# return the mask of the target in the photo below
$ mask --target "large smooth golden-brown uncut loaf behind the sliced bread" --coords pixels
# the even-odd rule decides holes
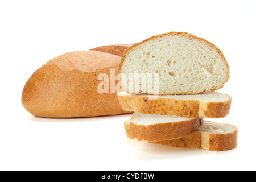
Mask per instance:
[[[49,60],[24,86],[24,108],[31,114],[47,118],[129,113],[121,108],[116,93],[110,90],[110,69],[114,69],[116,84],[115,76],[122,58],[118,55],[128,47],[107,46],[108,49],[101,48],[101,51],[75,51]],[[98,92],[98,84],[103,80],[98,80],[100,73],[109,77],[108,93]]]

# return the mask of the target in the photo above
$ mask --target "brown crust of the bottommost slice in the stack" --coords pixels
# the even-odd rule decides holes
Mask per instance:
[[[210,122],[210,121],[207,121]],[[220,123],[217,123],[220,124]],[[222,125],[222,124],[220,124]],[[229,125],[229,124],[226,124]],[[233,126],[233,125],[230,125]],[[236,128],[236,126],[233,126]],[[237,147],[238,129],[231,133],[206,133],[195,131],[177,140],[152,142],[173,147],[204,149],[209,151],[226,151]]]

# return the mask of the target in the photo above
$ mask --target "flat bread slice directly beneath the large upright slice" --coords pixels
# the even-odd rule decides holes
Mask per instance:
[[[167,96],[118,92],[117,96],[123,110],[144,114],[223,118],[228,115],[231,106],[230,96],[210,91],[197,95]]]

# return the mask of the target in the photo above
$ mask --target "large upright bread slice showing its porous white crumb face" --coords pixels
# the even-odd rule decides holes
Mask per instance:
[[[134,44],[123,53],[119,70],[123,90],[129,93],[155,94],[158,86],[159,95],[198,94],[222,88],[229,78],[229,65],[220,49],[185,32],[168,32]],[[150,84],[148,73],[158,74],[159,85],[154,79]],[[145,75],[147,87],[142,86]]]

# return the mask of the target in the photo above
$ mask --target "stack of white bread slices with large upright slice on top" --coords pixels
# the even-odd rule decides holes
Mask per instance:
[[[204,121],[226,117],[232,100],[214,92],[229,78],[214,44],[185,32],[152,36],[123,53],[119,71],[119,103],[134,112],[125,122],[130,139],[210,151],[237,146],[236,126]]]

